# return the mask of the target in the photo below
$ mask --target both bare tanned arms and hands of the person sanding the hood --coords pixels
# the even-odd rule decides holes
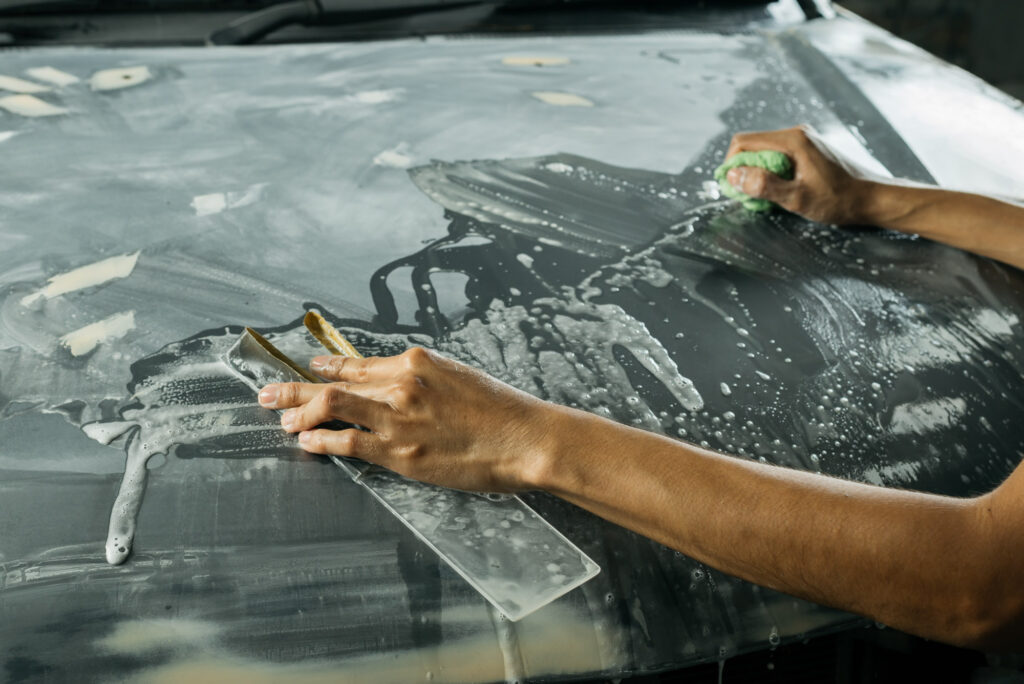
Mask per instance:
[[[730,182],[807,218],[914,232],[1024,268],[1024,207],[870,180],[804,127],[736,135],[796,176]],[[1024,647],[1024,469],[973,499],[884,488],[717,454],[542,401],[420,348],[319,356],[330,384],[268,385],[262,405],[314,454],[461,489],[542,489],[738,578],[950,644]],[[359,430],[325,430],[342,420]]]

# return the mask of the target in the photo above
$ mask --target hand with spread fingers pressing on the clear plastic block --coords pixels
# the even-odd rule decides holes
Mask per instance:
[[[530,488],[557,408],[425,349],[389,357],[317,356],[330,384],[267,385],[259,402],[312,454],[350,456],[408,477],[474,491]],[[325,430],[332,420],[361,425]]]

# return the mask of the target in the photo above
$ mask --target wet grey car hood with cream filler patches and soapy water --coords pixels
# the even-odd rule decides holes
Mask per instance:
[[[821,35],[840,30],[873,61],[824,62]],[[907,237],[751,216],[705,185],[732,132],[795,121],[864,165],[955,182],[856,96],[931,87],[913,70],[938,68],[886,40],[836,19],[6,55],[11,74],[81,79],[39,95],[69,114],[0,125],[8,678],[618,674],[854,621],[529,495],[602,572],[513,627],[204,354],[244,325],[311,353],[298,330],[316,306],[368,353],[435,347],[742,458],[986,490],[1024,448],[1019,273]],[[567,61],[505,60],[531,55]],[[151,78],[130,87],[88,86],[143,66]],[[822,96],[837,83],[846,95]],[[964,103],[992,101],[957,87]],[[552,92],[574,97],[536,95]],[[62,273],[76,274],[50,280]],[[143,438],[135,547],[114,567],[108,520]]]

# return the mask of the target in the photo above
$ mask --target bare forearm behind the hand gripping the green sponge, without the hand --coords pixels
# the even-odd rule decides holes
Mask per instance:
[[[1024,207],[938,187],[859,183],[858,222],[918,233],[1024,268]]]

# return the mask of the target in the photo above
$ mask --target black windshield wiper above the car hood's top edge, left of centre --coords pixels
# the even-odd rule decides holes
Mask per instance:
[[[253,43],[293,24],[317,24],[332,15],[430,11],[489,4],[479,0],[292,0],[270,5],[231,22],[207,37],[209,45]]]

